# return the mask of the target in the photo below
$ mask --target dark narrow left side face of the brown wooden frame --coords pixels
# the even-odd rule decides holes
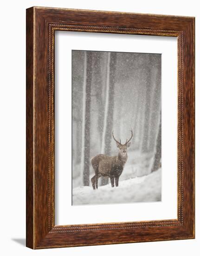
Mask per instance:
[[[33,248],[33,12],[26,11],[26,246]]]

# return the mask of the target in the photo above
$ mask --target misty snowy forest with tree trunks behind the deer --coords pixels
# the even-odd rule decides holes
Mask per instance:
[[[133,139],[120,180],[161,168],[161,54],[72,50],[72,187],[90,186],[90,159]],[[100,178],[106,185],[108,178]]]

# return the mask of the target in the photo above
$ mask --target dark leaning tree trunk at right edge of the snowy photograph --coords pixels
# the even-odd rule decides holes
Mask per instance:
[[[156,139],[154,162],[151,168],[151,172],[154,172],[159,168],[161,168],[161,114],[160,114],[160,123],[159,123],[157,139]]]

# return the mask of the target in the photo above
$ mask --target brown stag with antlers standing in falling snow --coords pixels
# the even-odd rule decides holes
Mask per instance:
[[[123,172],[124,165],[127,161],[127,148],[130,147],[130,140],[133,137],[133,131],[131,130],[131,137],[126,140],[125,144],[117,141],[113,135],[113,139],[116,141],[116,146],[119,148],[119,154],[116,156],[108,156],[99,154],[91,159],[92,167],[95,171],[95,175],[91,178],[93,189],[98,189],[98,178],[101,176],[110,177],[111,186],[118,187],[119,177]],[[115,180],[115,185],[114,185]]]

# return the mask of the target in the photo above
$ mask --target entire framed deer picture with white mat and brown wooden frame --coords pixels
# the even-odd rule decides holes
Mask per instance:
[[[194,17],[26,10],[26,246],[194,238]]]

